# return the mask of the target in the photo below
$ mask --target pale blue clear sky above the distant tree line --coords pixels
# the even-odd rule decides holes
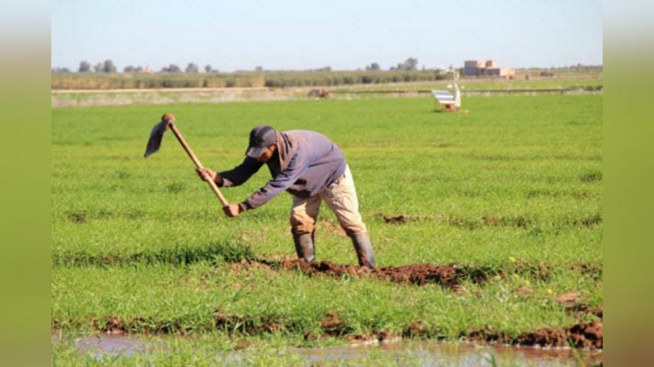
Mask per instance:
[[[52,67],[194,62],[219,71],[602,64],[602,2],[53,0]]]

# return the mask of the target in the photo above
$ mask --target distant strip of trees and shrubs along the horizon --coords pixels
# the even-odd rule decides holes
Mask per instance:
[[[586,69],[585,65],[573,65],[568,70]],[[588,67],[589,69],[591,67]],[[598,67],[601,71],[601,65]],[[451,76],[441,69],[418,69],[418,59],[409,57],[383,71],[373,62],[356,71],[333,71],[320,67],[305,71],[266,71],[257,66],[254,71],[218,72],[205,65],[200,72],[196,63],[188,63],[184,71],[175,64],[162,67],[158,72],[150,68],[128,65],[123,72],[116,72],[111,60],[92,66],[80,62],[78,72],[66,68],[52,69],[52,89],[120,89],[120,88],[230,88],[230,87],[319,87],[345,86],[351,84],[386,84],[397,82],[430,82]]]

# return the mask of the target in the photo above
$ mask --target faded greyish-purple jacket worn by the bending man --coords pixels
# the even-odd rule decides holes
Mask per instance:
[[[326,136],[307,130],[277,132],[277,150],[265,163],[272,180],[241,202],[245,210],[266,204],[282,191],[300,198],[318,195],[345,172],[345,157]],[[241,165],[220,172],[224,187],[246,182],[264,163],[245,157]]]

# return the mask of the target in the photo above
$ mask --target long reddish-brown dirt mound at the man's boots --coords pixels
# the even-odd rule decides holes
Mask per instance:
[[[385,279],[396,283],[412,283],[415,285],[426,285],[438,283],[443,287],[458,289],[460,285],[456,281],[456,269],[451,265],[410,264],[404,266],[387,266],[385,268],[368,268],[356,264],[334,264],[331,261],[317,261],[307,264],[303,259],[286,259],[281,262],[267,262],[273,268],[286,270],[301,270],[301,272],[312,276],[322,274],[341,278],[342,276],[368,276],[374,279]]]

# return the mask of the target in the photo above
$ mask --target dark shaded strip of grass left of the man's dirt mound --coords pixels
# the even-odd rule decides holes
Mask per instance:
[[[89,253],[71,251],[52,255],[54,266],[122,265],[122,264],[192,264],[237,263],[241,260],[256,260],[249,246],[230,241],[209,242],[206,246],[177,245],[158,251],[145,250],[138,253]]]

